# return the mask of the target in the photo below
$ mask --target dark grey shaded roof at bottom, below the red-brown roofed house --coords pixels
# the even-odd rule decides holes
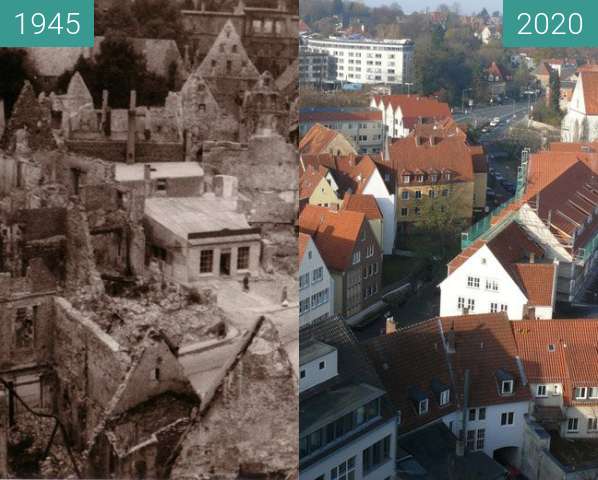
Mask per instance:
[[[504,479],[507,471],[485,453],[455,454],[455,436],[442,422],[433,423],[400,437],[398,447],[404,457],[397,462],[397,473],[405,480]],[[405,457],[405,453],[412,455]]]

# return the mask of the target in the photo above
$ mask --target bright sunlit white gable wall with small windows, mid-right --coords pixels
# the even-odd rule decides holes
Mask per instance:
[[[469,276],[480,279],[479,288],[467,286]],[[486,279],[496,280],[498,291],[486,290]],[[468,299],[475,301],[475,309],[469,312],[471,314],[490,313],[491,303],[498,304],[499,312],[501,305],[507,305],[510,320],[520,320],[523,317],[523,307],[527,303],[523,292],[486,245],[440,284],[441,317],[462,315],[463,312],[458,308],[459,297],[465,299],[465,307]]]

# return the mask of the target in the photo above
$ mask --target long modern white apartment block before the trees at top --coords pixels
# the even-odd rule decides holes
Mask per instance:
[[[409,83],[414,43],[409,39],[369,40],[309,37],[307,48],[336,58],[336,80],[350,83]]]

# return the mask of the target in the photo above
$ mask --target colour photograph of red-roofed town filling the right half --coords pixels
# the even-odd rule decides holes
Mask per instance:
[[[299,2],[301,480],[598,479],[598,49],[507,3]]]

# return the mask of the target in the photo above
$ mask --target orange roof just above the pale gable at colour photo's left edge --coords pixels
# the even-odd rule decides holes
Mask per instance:
[[[333,212],[315,205],[307,205],[299,215],[299,230],[312,235],[326,266],[339,272],[351,266],[353,250],[364,223],[363,213]]]

